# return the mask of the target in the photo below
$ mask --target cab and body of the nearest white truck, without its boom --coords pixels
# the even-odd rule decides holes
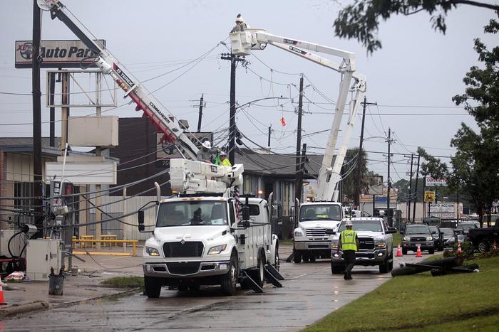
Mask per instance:
[[[247,204],[247,220],[236,223],[234,198],[160,201],[153,236],[143,250],[147,296],[157,298],[163,286],[187,291],[220,284],[225,295],[234,295],[238,282],[255,291],[264,279],[279,286],[279,243],[271,232],[267,201],[247,198]]]

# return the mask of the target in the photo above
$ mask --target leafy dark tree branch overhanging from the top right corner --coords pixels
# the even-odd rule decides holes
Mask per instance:
[[[392,15],[408,16],[426,11],[431,15],[432,27],[446,33],[445,16],[458,5],[499,10],[497,4],[469,0],[355,0],[354,4],[339,11],[334,21],[334,32],[340,38],[356,38],[368,53],[373,53],[381,48],[378,38],[380,20],[386,21]]]

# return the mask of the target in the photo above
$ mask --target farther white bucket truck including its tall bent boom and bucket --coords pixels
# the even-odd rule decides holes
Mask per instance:
[[[314,261],[318,257],[329,258],[331,257],[331,239],[326,234],[326,230],[336,229],[341,219],[344,218],[336,187],[341,181],[341,166],[354,129],[360,102],[366,92],[366,78],[356,72],[354,53],[345,50],[276,36],[259,28],[246,28],[245,31],[230,33],[230,40],[232,53],[235,55],[250,55],[252,50],[264,50],[267,45],[273,45],[341,74],[331,132],[317,178],[318,191],[314,197],[314,202],[300,205],[294,218],[296,227],[293,246],[294,262],[299,263],[302,259]],[[335,63],[309,51],[339,57],[341,61]],[[343,141],[339,145],[338,154],[336,154],[334,164],[331,167],[341,119],[350,90],[353,92],[353,98],[349,102],[349,117],[346,129],[343,131]]]

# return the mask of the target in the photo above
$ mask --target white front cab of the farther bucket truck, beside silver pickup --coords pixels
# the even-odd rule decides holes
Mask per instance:
[[[298,227],[293,232],[293,261],[295,263],[329,258],[330,235],[343,219],[341,203],[313,202],[300,205]]]

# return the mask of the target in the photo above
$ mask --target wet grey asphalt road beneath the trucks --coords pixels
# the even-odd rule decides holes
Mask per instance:
[[[404,262],[414,260],[403,257]],[[395,264],[398,264],[396,261]],[[391,279],[378,267],[354,267],[354,280],[331,274],[327,260],[282,263],[284,287],[265,284],[264,294],[217,287],[179,292],[163,287],[160,299],[142,294],[88,301],[4,321],[6,331],[299,331]]]

